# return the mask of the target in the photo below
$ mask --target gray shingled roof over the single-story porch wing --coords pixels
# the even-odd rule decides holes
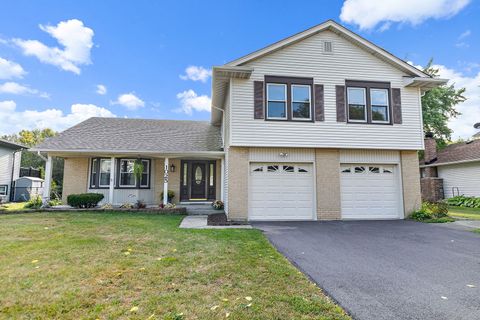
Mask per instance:
[[[90,118],[35,147],[40,151],[221,151],[220,128],[207,121]]]

